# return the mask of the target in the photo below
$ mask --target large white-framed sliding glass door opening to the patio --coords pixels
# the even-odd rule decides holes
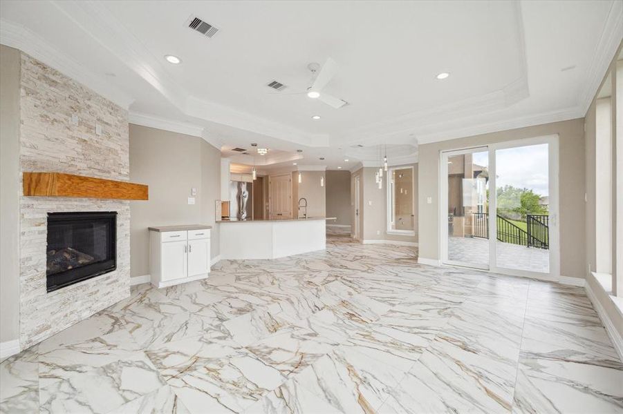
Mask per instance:
[[[442,152],[444,264],[559,275],[557,143],[539,137]]]

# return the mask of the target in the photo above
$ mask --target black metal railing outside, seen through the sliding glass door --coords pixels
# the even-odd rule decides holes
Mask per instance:
[[[505,217],[496,215],[496,227],[496,239],[500,242],[549,248],[548,215],[528,215],[526,217],[527,231]],[[472,235],[482,239],[489,238],[489,213],[472,213]]]

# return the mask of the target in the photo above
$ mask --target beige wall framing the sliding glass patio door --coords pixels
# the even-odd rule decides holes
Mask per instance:
[[[419,146],[420,257],[439,259],[439,152],[544,135],[559,135],[561,275],[586,274],[584,209],[584,119],[555,122]],[[427,204],[431,197],[432,204]]]

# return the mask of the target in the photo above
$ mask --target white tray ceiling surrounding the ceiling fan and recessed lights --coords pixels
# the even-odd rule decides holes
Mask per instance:
[[[216,36],[185,27],[191,14]],[[596,0],[2,1],[0,16],[2,43],[137,123],[333,168],[351,166],[340,159],[355,144],[416,156],[425,142],[582,117],[623,37],[623,3]],[[340,71],[326,92],[348,106],[286,95],[328,57]],[[275,93],[273,79],[288,88]]]

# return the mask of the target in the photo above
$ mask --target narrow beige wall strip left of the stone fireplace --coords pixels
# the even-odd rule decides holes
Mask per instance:
[[[19,337],[19,72],[0,45],[0,342]]]

